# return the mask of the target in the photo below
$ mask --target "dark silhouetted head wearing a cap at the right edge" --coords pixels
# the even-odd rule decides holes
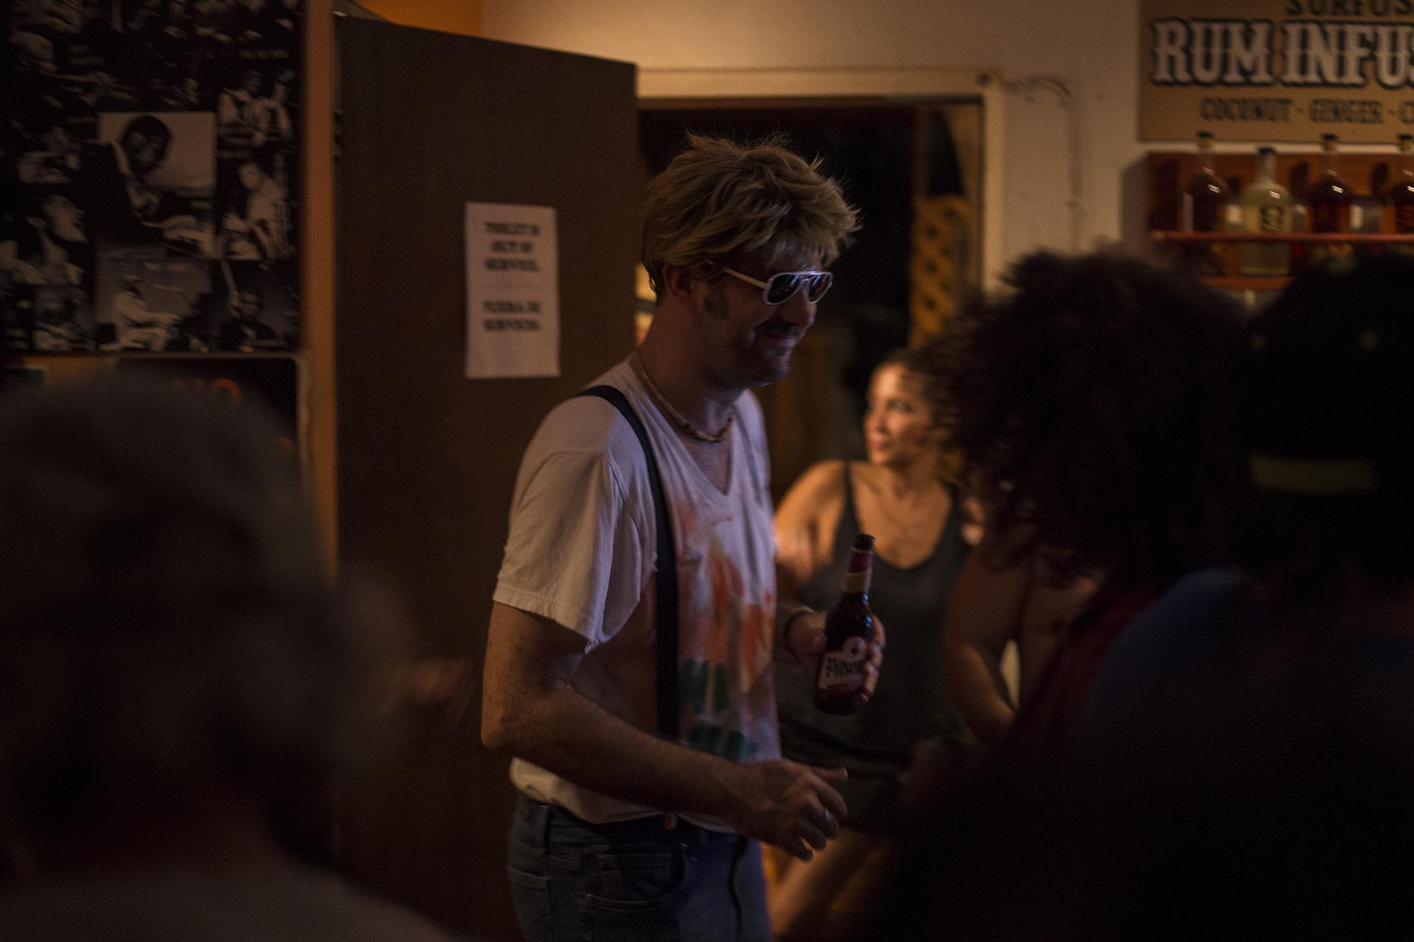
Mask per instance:
[[[1250,325],[1251,562],[1414,576],[1414,259],[1309,272]]]

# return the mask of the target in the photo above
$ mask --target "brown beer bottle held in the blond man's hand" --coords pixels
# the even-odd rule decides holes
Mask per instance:
[[[824,651],[814,672],[814,706],[824,713],[858,713],[864,706],[864,666],[874,636],[870,612],[870,573],[874,570],[874,537],[854,537],[844,591],[824,617]]]

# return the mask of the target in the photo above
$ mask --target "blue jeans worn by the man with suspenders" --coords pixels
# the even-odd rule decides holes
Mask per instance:
[[[522,795],[506,860],[530,942],[769,942],[761,846],[672,815],[591,825]]]

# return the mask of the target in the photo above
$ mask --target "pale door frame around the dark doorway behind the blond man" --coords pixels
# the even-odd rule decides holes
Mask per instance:
[[[888,103],[937,100],[981,102],[981,276],[983,287],[1000,284],[1003,273],[1003,195],[1005,93],[995,69],[638,69],[639,106],[665,100],[732,103],[751,99],[789,99],[792,106],[839,105],[841,99]]]

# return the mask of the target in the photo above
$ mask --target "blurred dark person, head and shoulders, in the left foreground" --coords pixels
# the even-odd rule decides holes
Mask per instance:
[[[0,402],[6,939],[447,938],[301,861],[392,652],[276,438],[153,380]]]

